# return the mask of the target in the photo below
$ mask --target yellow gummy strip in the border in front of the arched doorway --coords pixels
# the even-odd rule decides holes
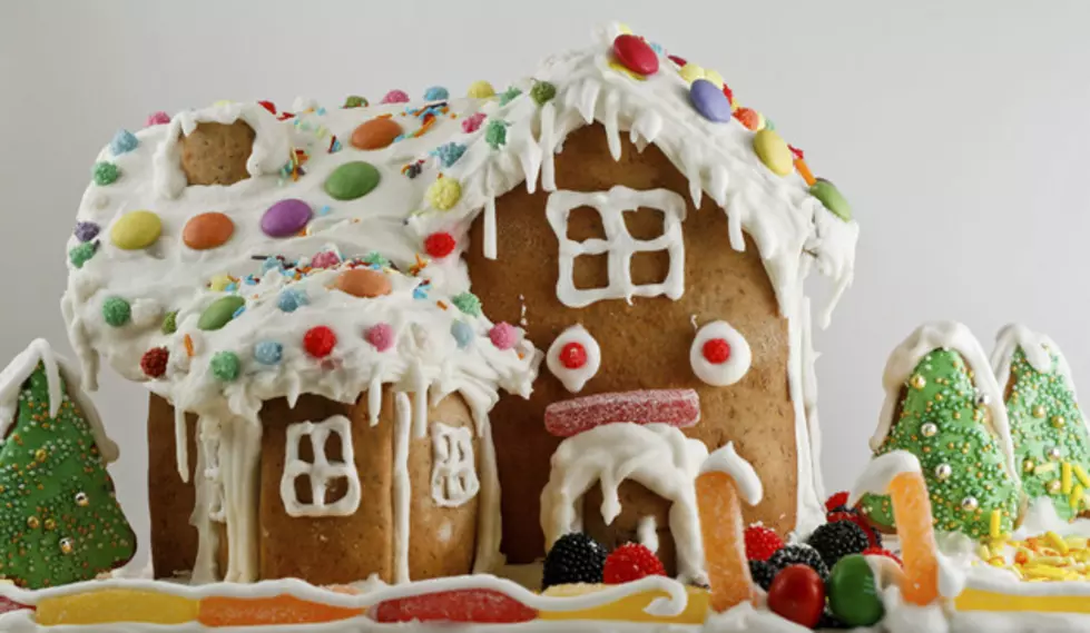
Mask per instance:
[[[547,596],[573,597],[612,589],[610,585],[560,585],[549,587]],[[656,622],[662,624],[703,624],[708,616],[709,593],[700,587],[685,587],[688,603],[685,611],[672,617],[657,616],[647,613],[646,609],[658,599],[668,594],[661,591],[646,591],[616,602],[578,611],[548,611],[538,614],[539,620],[611,620],[616,622]]]

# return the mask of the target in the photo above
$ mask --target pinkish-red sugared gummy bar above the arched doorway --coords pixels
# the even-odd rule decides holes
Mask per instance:
[[[546,429],[557,437],[619,422],[687,428],[700,422],[700,397],[694,389],[648,389],[596,394],[546,408]]]

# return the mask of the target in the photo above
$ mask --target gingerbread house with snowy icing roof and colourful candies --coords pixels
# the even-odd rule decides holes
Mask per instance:
[[[88,387],[105,360],[151,392],[157,575],[488,571],[501,523],[529,562],[575,395],[684,393],[685,421],[611,422],[683,447],[681,478],[734,441],[769,491],[750,518],[821,520],[803,281],[839,295],[857,227],[716,73],[600,37],[499,93],[223,102],[102,150],[62,308]],[[608,486],[568,506],[603,538],[686,530],[684,486],[649,482],[617,482],[627,527],[583,512]]]

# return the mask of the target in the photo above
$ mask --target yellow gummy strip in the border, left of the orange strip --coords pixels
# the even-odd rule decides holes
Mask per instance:
[[[153,591],[102,590],[42,599],[35,619],[42,626],[60,624],[185,624],[197,619],[195,600]]]

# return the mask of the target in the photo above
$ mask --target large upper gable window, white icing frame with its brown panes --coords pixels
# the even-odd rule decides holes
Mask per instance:
[[[560,243],[557,297],[572,308],[602,299],[679,298],[685,290],[685,199],[669,189],[637,191],[618,186],[609,191],[551,194],[546,215]],[[587,211],[599,216],[603,237],[583,238]],[[580,224],[578,230],[570,226],[573,221]],[[590,257],[605,260],[597,275],[577,265]],[[634,259],[638,259],[635,275]],[[649,269],[655,263],[665,274]]]

